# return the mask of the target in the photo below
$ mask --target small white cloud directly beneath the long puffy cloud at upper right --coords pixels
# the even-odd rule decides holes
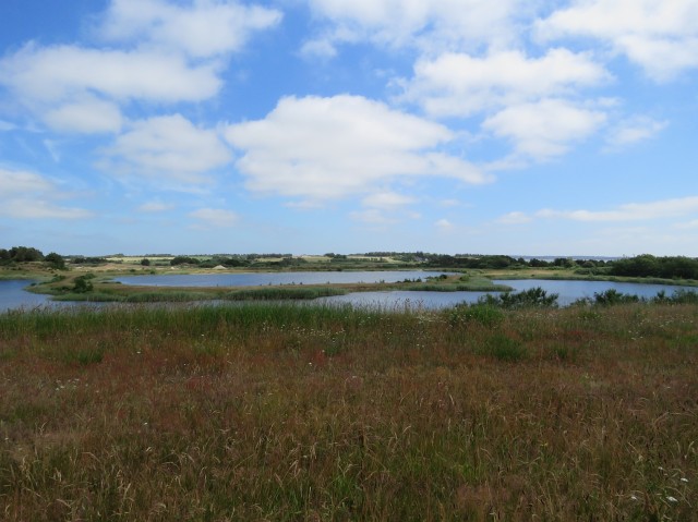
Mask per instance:
[[[512,139],[517,153],[544,160],[565,154],[573,142],[586,138],[604,122],[603,112],[545,99],[508,107],[488,118],[482,126]]]

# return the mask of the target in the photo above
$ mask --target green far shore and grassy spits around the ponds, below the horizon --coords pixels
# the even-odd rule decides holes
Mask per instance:
[[[220,274],[224,271],[322,271],[322,270],[400,270],[423,269],[423,278],[398,283],[333,284],[267,289],[202,289],[118,286],[111,279],[120,275]],[[449,275],[440,271],[448,272]],[[206,300],[312,300],[318,296],[371,290],[412,291],[506,291],[493,279],[609,280],[645,283],[698,286],[698,259],[641,255],[619,259],[515,258],[506,255],[444,255],[423,252],[369,252],[342,255],[293,256],[291,254],[215,254],[172,256],[153,254],[127,257],[44,255],[26,246],[0,248],[0,278],[33,278],[31,291],[46,293],[59,301],[88,302],[181,302]]]

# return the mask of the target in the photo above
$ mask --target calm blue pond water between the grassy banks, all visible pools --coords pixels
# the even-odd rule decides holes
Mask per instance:
[[[322,284],[351,282],[396,282],[407,279],[425,280],[429,276],[441,272],[429,271],[362,271],[362,272],[286,272],[286,274],[214,274],[197,276],[133,276],[118,278],[124,284],[161,286],[161,287],[252,287],[267,284]],[[547,293],[558,294],[561,306],[571,304],[582,298],[593,298],[594,293],[617,290],[622,293],[642,298],[653,298],[664,291],[667,295],[678,289],[698,291],[698,288],[673,287],[667,284],[638,284],[606,281],[549,281],[549,280],[505,280],[494,281],[507,284],[515,291],[541,287]],[[46,295],[37,295],[23,290],[31,281],[0,281],[0,313],[13,308],[34,308],[36,306],[64,306],[71,303],[52,303]],[[386,292],[358,292],[347,295],[321,298],[315,303],[351,304],[385,309],[410,308],[446,308],[458,303],[477,302],[485,292],[409,292],[405,290]]]

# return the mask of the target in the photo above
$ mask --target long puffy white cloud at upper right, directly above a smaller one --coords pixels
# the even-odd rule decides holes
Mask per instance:
[[[405,84],[405,99],[426,112],[470,116],[492,108],[575,93],[598,85],[607,72],[588,53],[550,49],[531,59],[520,51],[498,51],[483,58],[447,52],[422,59]]]

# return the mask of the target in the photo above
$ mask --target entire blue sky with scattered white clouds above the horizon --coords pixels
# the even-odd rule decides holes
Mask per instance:
[[[698,0],[3,0],[0,29],[3,247],[698,256]]]

